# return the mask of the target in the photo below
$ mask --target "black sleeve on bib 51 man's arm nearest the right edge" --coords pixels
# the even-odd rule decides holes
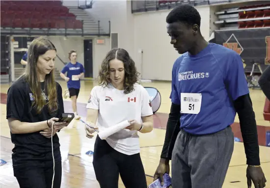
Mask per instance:
[[[246,164],[260,165],[257,125],[249,94],[237,98],[234,106],[240,120]]]

